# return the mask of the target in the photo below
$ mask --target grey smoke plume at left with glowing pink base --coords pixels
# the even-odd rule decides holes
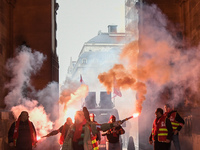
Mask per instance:
[[[13,112],[16,119],[21,111],[27,111],[38,137],[52,130],[59,117],[58,83],[49,83],[46,88],[36,91],[30,82],[31,75],[40,70],[45,59],[46,56],[42,53],[21,46],[17,49],[16,56],[9,59],[6,65],[11,78],[10,82],[5,85],[5,88],[9,90],[5,97],[7,109]],[[33,95],[36,99],[31,98]],[[42,141],[39,143],[41,144]],[[48,146],[46,148],[49,149]]]

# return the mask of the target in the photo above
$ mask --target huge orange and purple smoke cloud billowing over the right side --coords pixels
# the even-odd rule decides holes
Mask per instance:
[[[109,92],[114,78],[122,90],[137,91],[139,112],[146,97],[149,101],[153,98],[164,103],[159,98],[166,87],[172,92],[167,100],[177,106],[183,103],[187,89],[192,93],[199,89],[199,47],[186,49],[182,39],[176,36],[180,31],[156,5],[144,5],[138,13],[140,25],[143,25],[139,31],[140,41],[127,44],[120,55],[120,63],[100,74],[99,80]]]

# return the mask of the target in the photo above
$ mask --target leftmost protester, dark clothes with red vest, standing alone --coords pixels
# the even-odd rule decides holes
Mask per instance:
[[[8,131],[9,146],[16,150],[32,150],[32,147],[36,147],[35,127],[28,118],[28,112],[22,111]]]

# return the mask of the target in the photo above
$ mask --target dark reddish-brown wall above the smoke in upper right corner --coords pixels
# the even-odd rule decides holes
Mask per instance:
[[[140,0],[139,3],[156,4],[173,23],[177,36],[181,36],[187,46],[199,44],[200,3],[198,0]]]

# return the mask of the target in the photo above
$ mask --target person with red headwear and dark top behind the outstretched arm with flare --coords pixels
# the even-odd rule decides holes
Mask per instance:
[[[110,116],[109,123],[113,123],[116,121],[116,117],[114,115]],[[103,136],[107,136],[106,141],[106,150],[120,150],[120,135],[124,134],[125,130],[121,126],[114,127],[106,131],[106,133],[102,134]]]

